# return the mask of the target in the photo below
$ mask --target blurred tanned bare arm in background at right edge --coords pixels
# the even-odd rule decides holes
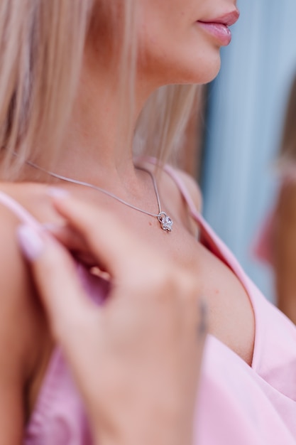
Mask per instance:
[[[296,183],[280,191],[273,240],[278,307],[296,323]]]

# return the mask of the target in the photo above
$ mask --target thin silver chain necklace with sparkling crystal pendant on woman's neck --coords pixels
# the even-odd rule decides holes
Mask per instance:
[[[143,170],[143,171],[146,171],[146,173],[149,173],[150,178],[152,179],[155,195],[156,195],[156,198],[158,200],[158,213],[157,214],[156,213],[147,212],[146,210],[143,210],[142,208],[136,207],[136,205],[133,205],[133,204],[130,204],[130,203],[126,203],[126,201],[124,201],[123,199],[121,199],[118,196],[114,195],[113,193],[104,190],[104,188],[94,186],[94,184],[87,183],[87,182],[84,182],[84,181],[77,181],[77,179],[67,178],[67,176],[58,175],[57,173],[53,173],[53,171],[45,170],[45,168],[40,167],[40,166],[38,166],[37,164],[35,164],[35,163],[31,162],[31,161],[26,161],[26,163],[28,164],[28,166],[31,166],[33,168],[36,168],[37,170],[43,171],[44,173],[48,173],[48,175],[53,176],[53,178],[57,178],[57,179],[60,179],[61,181],[67,181],[67,182],[70,182],[70,183],[73,183],[73,184],[78,184],[80,186],[93,188],[94,190],[102,192],[105,195],[108,195],[111,198],[116,199],[117,201],[119,201],[119,203],[127,205],[130,208],[133,208],[133,210],[138,210],[138,212],[145,213],[146,215],[149,215],[149,216],[153,216],[153,218],[158,218],[158,221],[160,223],[160,227],[163,230],[165,230],[166,232],[172,232],[172,225],[173,225],[172,218],[170,218],[170,216],[168,216],[165,212],[163,212],[161,210],[160,197],[159,197],[159,193],[158,193],[158,186],[157,186],[157,183],[156,183],[156,180],[155,180],[155,176],[149,170],[146,170],[146,168],[136,167],[139,170]]]

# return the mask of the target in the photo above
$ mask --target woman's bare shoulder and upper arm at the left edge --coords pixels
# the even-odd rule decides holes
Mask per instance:
[[[15,184],[0,184],[0,191],[15,200],[18,195],[21,200],[24,193],[23,187]],[[19,223],[11,210],[0,204],[0,428],[2,439],[4,436],[4,442],[10,444],[21,443],[26,421],[24,389],[35,368],[44,325],[43,311],[18,250]]]

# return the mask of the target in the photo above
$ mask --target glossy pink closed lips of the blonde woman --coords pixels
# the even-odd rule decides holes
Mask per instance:
[[[234,9],[223,16],[199,20],[197,23],[207,33],[211,34],[220,45],[226,46],[231,42],[229,26],[234,25],[239,19],[239,11]]]

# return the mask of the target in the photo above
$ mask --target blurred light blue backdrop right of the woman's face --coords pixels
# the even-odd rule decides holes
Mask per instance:
[[[296,71],[296,1],[240,0],[233,41],[209,86],[202,191],[204,216],[273,300],[273,277],[252,254],[276,193],[287,94]],[[295,122],[296,124],[296,122]]]

